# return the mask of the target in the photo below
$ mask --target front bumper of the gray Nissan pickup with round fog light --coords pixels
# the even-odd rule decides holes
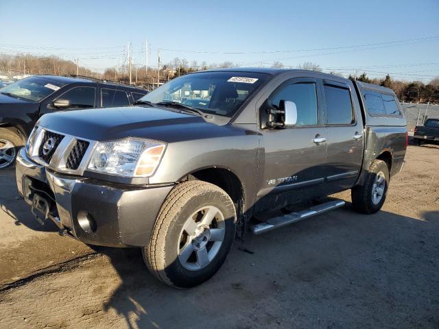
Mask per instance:
[[[161,205],[174,186],[112,184],[60,175],[30,160],[24,148],[16,160],[16,184],[30,206],[34,195],[53,203],[47,217],[60,229],[84,243],[110,247],[147,245]],[[84,219],[94,225],[87,228]]]

